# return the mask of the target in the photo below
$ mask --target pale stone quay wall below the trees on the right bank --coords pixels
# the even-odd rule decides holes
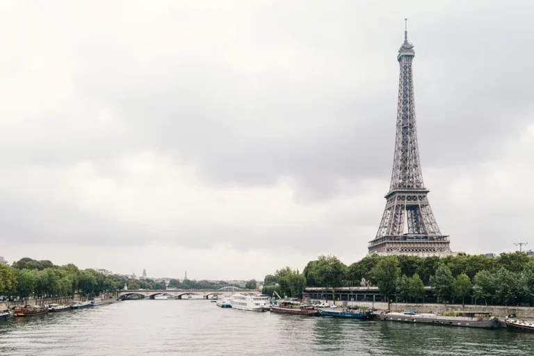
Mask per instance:
[[[332,300],[328,302],[332,303]],[[362,307],[375,307],[378,310],[386,310],[386,302],[341,302],[336,301],[336,305],[339,307],[343,305],[358,305]],[[416,310],[419,313],[443,313],[448,310],[453,310],[455,312],[493,312],[494,316],[504,318],[508,314],[515,314],[518,318],[534,318],[534,307],[504,307],[502,305],[465,305],[462,307],[461,304],[438,304],[438,303],[427,303],[427,304],[413,304],[413,303],[391,303],[389,305],[391,311],[394,312],[403,312],[406,309]]]

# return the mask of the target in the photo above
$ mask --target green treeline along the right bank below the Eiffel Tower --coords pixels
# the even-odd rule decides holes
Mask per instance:
[[[303,282],[302,282],[303,281]],[[299,298],[304,286],[378,286],[385,300],[418,301],[424,286],[433,286],[439,302],[464,301],[471,296],[486,304],[534,302],[534,259],[524,252],[499,257],[458,254],[454,257],[364,257],[349,266],[335,256],[320,256],[302,270],[286,267],[267,275],[264,293]]]

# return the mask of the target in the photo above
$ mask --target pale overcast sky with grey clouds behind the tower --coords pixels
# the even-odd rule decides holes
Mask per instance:
[[[0,255],[263,278],[364,257],[404,17],[451,248],[534,245],[534,3],[1,1]]]

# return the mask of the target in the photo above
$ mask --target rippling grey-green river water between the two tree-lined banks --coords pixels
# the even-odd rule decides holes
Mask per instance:
[[[534,355],[534,333],[127,300],[0,322],[0,355]]]

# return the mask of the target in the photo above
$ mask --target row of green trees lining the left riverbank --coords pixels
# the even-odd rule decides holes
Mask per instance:
[[[0,264],[0,296],[26,300],[33,297],[42,304],[43,298],[57,301],[78,294],[83,299],[115,293],[124,288],[127,279],[118,275],[102,275],[74,264],[56,266],[48,260],[37,261],[25,257],[13,266]]]

